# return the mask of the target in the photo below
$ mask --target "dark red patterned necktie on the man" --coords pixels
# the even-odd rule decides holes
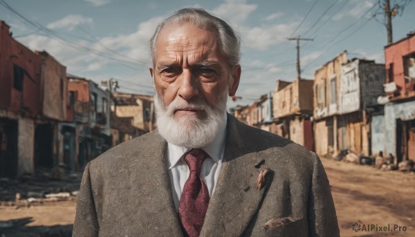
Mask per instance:
[[[190,169],[180,202],[178,216],[185,236],[199,236],[206,210],[209,205],[209,191],[201,178],[202,164],[208,154],[200,149],[192,149],[185,155],[185,162]]]

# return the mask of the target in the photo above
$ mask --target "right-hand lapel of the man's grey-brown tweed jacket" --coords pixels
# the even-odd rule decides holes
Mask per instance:
[[[241,236],[257,213],[261,200],[273,179],[273,171],[265,177],[262,188],[256,188],[259,161],[255,142],[245,143],[250,131],[228,115],[225,153],[219,180],[210,199],[200,236]]]

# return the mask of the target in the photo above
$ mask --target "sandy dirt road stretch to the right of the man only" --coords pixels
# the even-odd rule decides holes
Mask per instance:
[[[415,236],[415,175],[380,171],[322,158],[331,184],[341,236]],[[387,226],[389,231],[353,231],[352,225]],[[407,231],[390,231],[394,225]]]

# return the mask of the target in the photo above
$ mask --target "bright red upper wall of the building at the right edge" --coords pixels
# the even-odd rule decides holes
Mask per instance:
[[[385,47],[385,68],[386,68],[386,83],[392,82],[389,78],[390,66],[393,64],[393,82],[396,83],[400,95],[405,95],[405,78],[403,68],[403,56],[415,53],[415,35],[402,39],[395,44]]]

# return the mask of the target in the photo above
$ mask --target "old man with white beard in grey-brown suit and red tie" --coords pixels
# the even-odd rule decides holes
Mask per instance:
[[[226,113],[241,77],[228,23],[178,10],[150,50],[158,129],[86,165],[73,236],[339,236],[317,155]]]

